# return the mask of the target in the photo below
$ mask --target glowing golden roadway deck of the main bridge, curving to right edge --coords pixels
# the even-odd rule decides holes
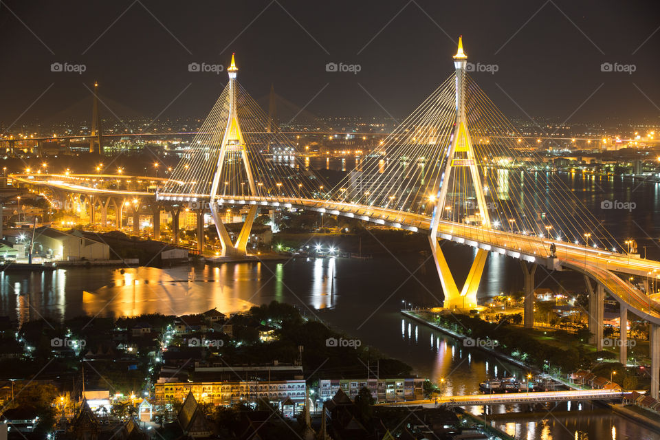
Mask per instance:
[[[12,175],[17,181],[34,186],[44,186],[67,192],[79,194],[94,194],[114,197],[156,197],[153,192],[114,190],[85,186],[87,180],[94,177],[102,179],[104,176],[84,175],[85,179],[74,180],[74,176],[67,175]],[[80,175],[83,177],[83,175]],[[126,179],[138,177],[111,176],[113,179]],[[143,177],[144,181],[156,180]],[[186,203],[188,201],[208,200],[208,195],[180,195],[159,194],[158,199],[170,203]],[[428,231],[431,218],[421,214],[401,212],[398,210],[365,206],[344,201],[305,199],[295,197],[263,197],[263,196],[222,196],[219,203],[281,206],[285,208],[305,208],[329,214],[344,215],[363,221],[371,221],[382,225],[390,225],[413,232]],[[660,275],[660,262],[640,259],[584,245],[575,245],[566,241],[545,239],[539,236],[524,235],[514,232],[496,230],[494,228],[481,228],[463,223],[440,221],[438,236],[441,239],[471,245],[489,252],[498,252],[517,259],[547,265],[553,269],[570,269],[582,272],[598,283],[601,283],[607,292],[614,296],[619,303],[625,305],[640,318],[660,325],[660,304],[651,300],[635,286],[628,283],[617,273],[637,276]],[[551,258],[549,249],[555,244],[555,257]]]

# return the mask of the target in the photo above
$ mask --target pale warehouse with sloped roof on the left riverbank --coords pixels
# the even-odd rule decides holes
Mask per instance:
[[[43,226],[34,234],[34,252],[54,260],[109,260],[110,246],[80,236]]]

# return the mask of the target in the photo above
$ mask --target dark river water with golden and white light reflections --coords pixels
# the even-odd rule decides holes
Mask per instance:
[[[573,179],[571,188],[621,241],[637,239],[640,250],[660,259],[657,246],[660,193],[656,184],[630,179]],[[602,199],[635,201],[632,212],[600,210]],[[386,245],[386,243],[385,243]],[[471,248],[451,245],[445,252],[456,278],[467,274]],[[428,252],[399,254],[368,261],[355,259],[293,259],[283,263],[241,263],[222,267],[151,267],[57,270],[44,274],[0,272],[0,314],[21,322],[45,318],[60,321],[80,314],[134,316],[199,313],[212,307],[223,312],[245,310],[272,300],[296,305],[363,344],[407,362],[421,376],[443,382],[443,394],[470,394],[487,377],[526,372],[462,347],[452,338],[406,320],[401,305],[437,305],[441,287]],[[580,276],[570,273],[537,275],[549,287],[561,283],[582,290]],[[481,298],[520,289],[517,261],[489,256],[480,288]],[[366,370],[366,369],[365,369]],[[365,371],[366,375],[366,371]],[[613,415],[609,410],[577,402],[548,412],[536,408],[498,406],[489,421],[518,439],[660,439],[660,434]],[[480,414],[481,408],[473,408]],[[499,415],[498,415],[499,413]]]

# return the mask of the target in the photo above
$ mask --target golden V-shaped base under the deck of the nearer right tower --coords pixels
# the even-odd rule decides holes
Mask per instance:
[[[431,253],[435,260],[435,267],[440,276],[442,290],[445,294],[442,307],[445,309],[469,309],[476,307],[476,291],[479,288],[479,283],[481,283],[481,274],[483,274],[483,267],[488,258],[488,251],[483,249],[476,250],[476,256],[472,262],[472,267],[470,267],[470,272],[467,274],[463,288],[459,292],[445,255],[441,250],[439,240],[435,236],[429,236],[428,239],[431,244]]]

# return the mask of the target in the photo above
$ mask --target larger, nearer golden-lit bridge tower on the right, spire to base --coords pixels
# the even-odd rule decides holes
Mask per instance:
[[[440,179],[440,188],[433,208],[429,241],[445,294],[443,307],[445,309],[469,309],[476,307],[476,291],[481,282],[481,275],[483,274],[488,252],[484,249],[476,250],[476,256],[472,262],[472,267],[470,267],[470,272],[467,274],[463,288],[459,290],[437,236],[439,223],[443,212],[445,212],[445,202],[447,201],[447,192],[450,187],[452,169],[459,166],[467,167],[470,171],[481,226],[487,228],[490,225],[490,217],[486,208],[483,185],[481,184],[476,155],[474,154],[474,146],[470,139],[470,133],[467,130],[465,114],[465,67],[467,65],[467,56],[463,52],[463,36],[459,37],[459,48],[453,58],[456,69],[456,117],[454,120],[454,132],[452,133],[448,153],[445,157],[445,169]]]

